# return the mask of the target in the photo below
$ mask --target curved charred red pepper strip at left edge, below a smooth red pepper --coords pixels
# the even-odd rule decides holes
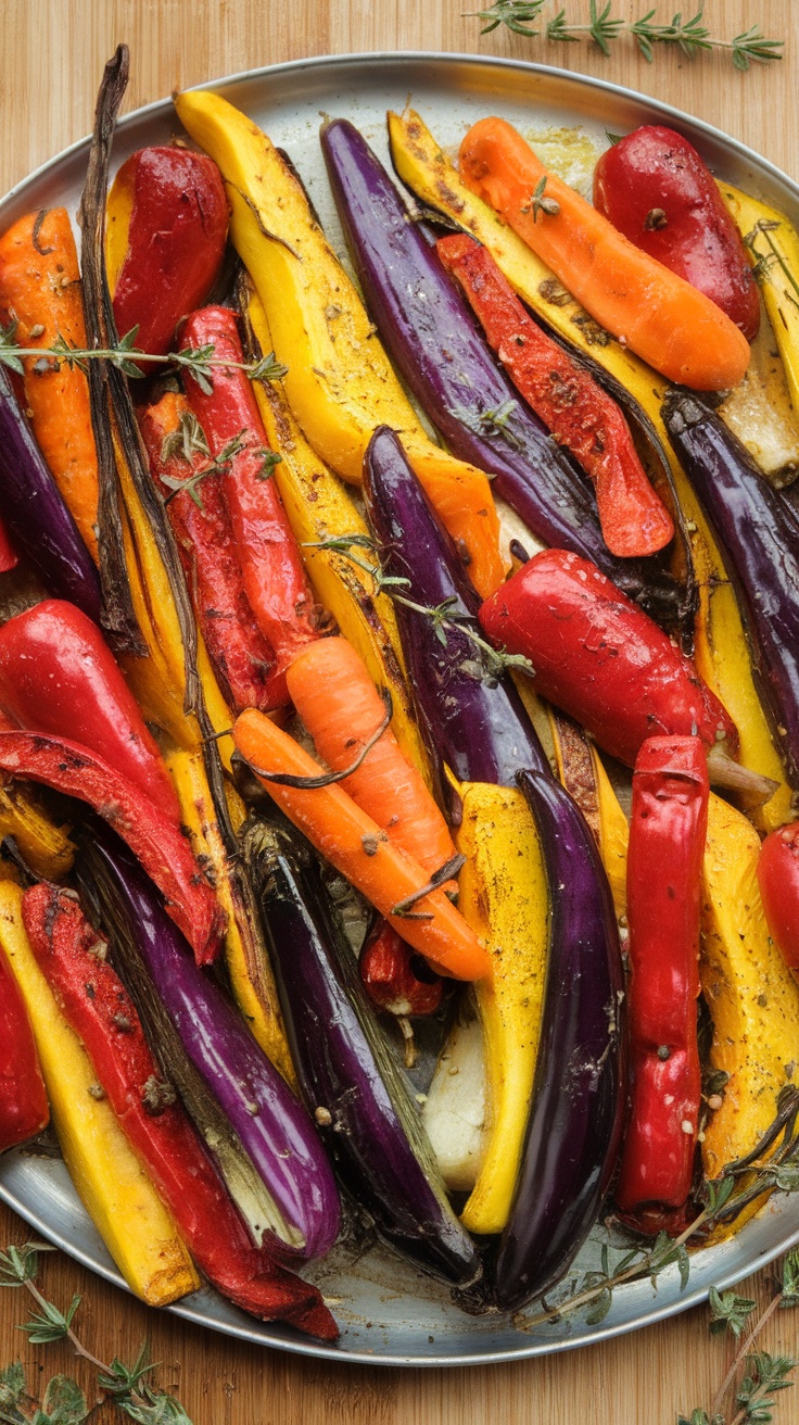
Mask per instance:
[[[161,891],[197,963],[216,958],[225,913],[182,832],[138,787],[87,747],[43,732],[0,731],[0,771],[90,802]]]

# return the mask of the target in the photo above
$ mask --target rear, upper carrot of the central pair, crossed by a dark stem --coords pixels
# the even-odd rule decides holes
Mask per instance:
[[[346,638],[320,638],[293,660],[286,683],[328,767],[350,767],[386,715],[363,658]],[[390,728],[339,787],[429,874],[454,856],[447,824]]]

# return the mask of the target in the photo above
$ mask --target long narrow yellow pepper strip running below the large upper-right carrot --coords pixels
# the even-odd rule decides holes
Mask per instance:
[[[743,767],[779,784],[766,805],[753,812],[762,831],[773,831],[790,819],[790,788],[755,690],[741,611],[724,560],[661,418],[667,383],[651,366],[597,326],[531,248],[493,208],[470,192],[419,114],[410,108],[403,114],[389,114],[389,137],[397,174],[412,192],[479,238],[524,302],[571,346],[584,351],[615,376],[652,422],[691,533],[699,590],[694,653],[696,667],[738,728]]]

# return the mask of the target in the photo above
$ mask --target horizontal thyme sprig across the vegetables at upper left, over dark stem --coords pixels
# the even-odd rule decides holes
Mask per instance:
[[[244,370],[249,380],[265,382],[281,380],[288,372],[288,366],[275,358],[275,352],[251,362],[218,361],[214,356],[216,348],[212,342],[205,346],[184,346],[181,351],[167,352],[164,356],[142,352],[135,345],[138,326],[131,326],[130,332],[120,336],[115,346],[104,348],[71,346],[63,336],[58,336],[53,346],[20,346],[17,329],[19,322],[16,321],[10,322],[9,326],[0,326],[0,366],[7,366],[19,375],[24,372],[23,356],[36,358],[33,369],[41,375],[60,370],[61,362],[70,368],[78,366],[85,370],[85,363],[90,361],[108,361],[134,380],[147,375],[141,369],[141,362],[144,362],[154,366],[178,366],[194,376],[199,389],[209,395],[214,390],[214,370]]]

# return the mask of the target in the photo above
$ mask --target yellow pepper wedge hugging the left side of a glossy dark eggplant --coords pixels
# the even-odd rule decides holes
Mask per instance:
[[[464,782],[456,832],[466,856],[459,911],[491,958],[474,986],[483,1022],[489,1124],[486,1153],[461,1214],[471,1233],[507,1223],[530,1113],[544,978],[548,886],[536,822],[520,791]]]

